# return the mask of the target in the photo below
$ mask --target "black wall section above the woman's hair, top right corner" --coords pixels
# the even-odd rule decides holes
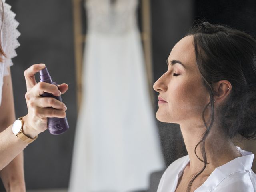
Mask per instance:
[[[256,36],[255,0],[196,0],[195,15]]]

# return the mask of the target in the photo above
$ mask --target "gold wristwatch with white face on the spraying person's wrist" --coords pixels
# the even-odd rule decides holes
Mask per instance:
[[[23,132],[23,124],[24,124],[24,121],[22,120],[22,117],[20,117],[17,120],[15,120],[14,123],[12,124],[12,132],[18,138],[20,138],[22,141],[24,141],[26,143],[32,143],[34,140],[36,140],[36,138],[38,136],[32,138],[32,137],[27,136],[26,134],[24,134],[24,132]]]

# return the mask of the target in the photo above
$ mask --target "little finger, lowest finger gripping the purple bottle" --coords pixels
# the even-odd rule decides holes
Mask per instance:
[[[34,114],[39,118],[48,118],[48,117],[57,117],[64,118],[66,117],[66,112],[64,110],[58,110],[54,108],[36,108]]]

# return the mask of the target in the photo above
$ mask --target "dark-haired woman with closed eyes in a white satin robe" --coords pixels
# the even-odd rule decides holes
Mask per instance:
[[[156,118],[180,125],[188,152],[157,192],[255,192],[254,154],[232,142],[256,138],[256,40],[228,26],[196,24],[155,82]]]

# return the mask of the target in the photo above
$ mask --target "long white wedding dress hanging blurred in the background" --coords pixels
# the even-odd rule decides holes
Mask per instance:
[[[146,190],[164,169],[147,89],[137,0],[87,0],[83,96],[69,192]]]

